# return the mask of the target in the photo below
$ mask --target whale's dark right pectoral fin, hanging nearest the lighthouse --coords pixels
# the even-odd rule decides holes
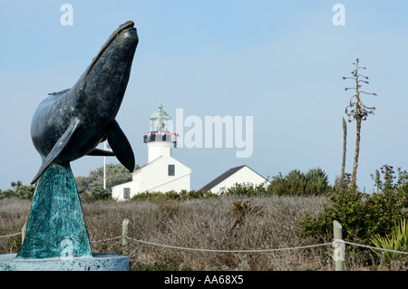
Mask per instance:
[[[112,128],[108,134],[108,142],[116,158],[119,159],[126,169],[132,172],[135,164],[133,150],[116,120],[113,121]]]

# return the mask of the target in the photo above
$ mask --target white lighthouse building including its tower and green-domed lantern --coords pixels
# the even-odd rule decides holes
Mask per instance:
[[[190,190],[191,169],[171,157],[178,135],[171,130],[171,117],[159,106],[151,114],[151,130],[143,136],[148,146],[148,163],[132,173],[132,180],[112,187],[112,197],[125,200],[143,192]]]

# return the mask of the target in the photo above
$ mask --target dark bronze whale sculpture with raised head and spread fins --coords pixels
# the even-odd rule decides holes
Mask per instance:
[[[139,42],[133,26],[131,21],[121,24],[71,89],[50,93],[39,104],[31,136],[43,164],[32,184],[53,162],[69,163],[85,155],[114,155],[133,171],[131,144],[115,120]],[[113,152],[96,149],[106,139]]]

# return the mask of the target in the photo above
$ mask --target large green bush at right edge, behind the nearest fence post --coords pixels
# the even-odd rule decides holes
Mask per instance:
[[[344,239],[356,243],[371,245],[373,236],[390,234],[395,222],[408,215],[408,174],[398,170],[397,183],[393,183],[393,172],[385,175],[385,182],[377,181],[379,193],[365,194],[356,187],[337,190],[331,196],[331,207],[301,221],[302,236],[331,239],[334,220],[343,226]]]

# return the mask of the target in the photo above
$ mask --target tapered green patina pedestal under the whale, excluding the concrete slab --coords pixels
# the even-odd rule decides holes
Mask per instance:
[[[15,259],[86,256],[92,256],[91,245],[71,166],[53,163],[38,181]]]

